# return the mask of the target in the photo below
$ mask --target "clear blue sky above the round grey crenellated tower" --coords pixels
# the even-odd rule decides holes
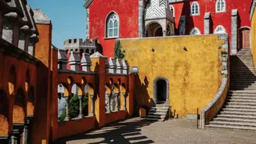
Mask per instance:
[[[32,9],[39,8],[52,20],[52,44],[63,49],[69,38],[85,39],[85,0],[27,0]]]

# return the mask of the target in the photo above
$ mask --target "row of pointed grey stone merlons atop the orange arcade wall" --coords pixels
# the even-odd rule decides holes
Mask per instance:
[[[108,61],[105,56],[99,52],[93,53],[91,56],[88,53],[83,52],[82,56],[79,56],[79,52],[70,51],[70,56],[67,56],[67,50],[58,50],[58,69],[61,71],[73,70],[75,72],[87,72],[91,73],[92,58],[104,58],[106,74],[128,74],[129,65],[125,59],[110,58]],[[67,69],[67,63],[70,65],[70,69]],[[82,70],[80,70],[82,67]]]

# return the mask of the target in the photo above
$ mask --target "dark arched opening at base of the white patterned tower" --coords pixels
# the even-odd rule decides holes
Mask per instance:
[[[162,37],[163,36],[163,28],[159,23],[150,23],[148,27],[146,27],[146,37]]]

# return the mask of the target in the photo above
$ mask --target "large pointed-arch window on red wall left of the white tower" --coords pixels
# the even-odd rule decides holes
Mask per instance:
[[[116,13],[110,13],[106,17],[106,38],[117,38],[119,36],[119,18]]]

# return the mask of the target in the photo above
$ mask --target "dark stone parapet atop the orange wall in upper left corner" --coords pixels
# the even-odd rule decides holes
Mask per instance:
[[[34,56],[38,30],[30,5],[26,0],[0,0],[0,5],[0,37]]]

